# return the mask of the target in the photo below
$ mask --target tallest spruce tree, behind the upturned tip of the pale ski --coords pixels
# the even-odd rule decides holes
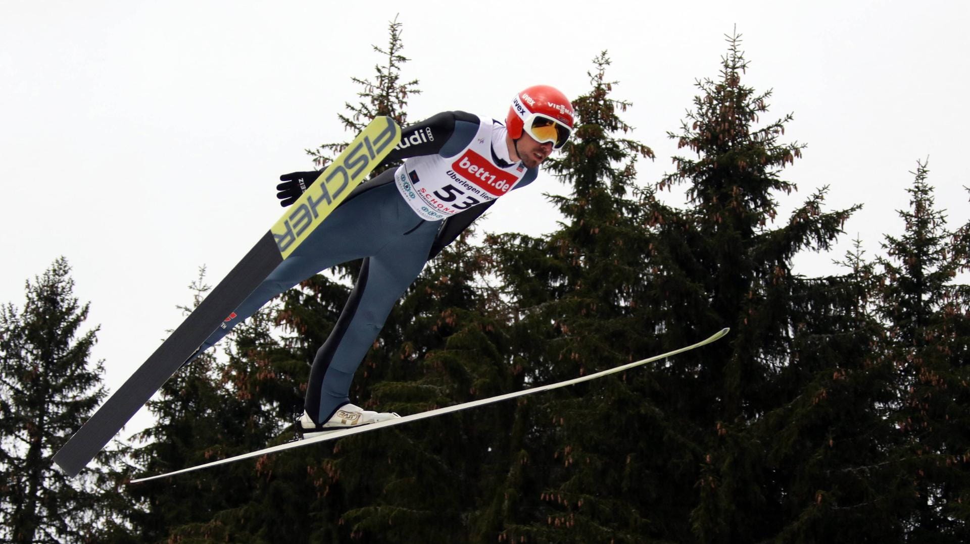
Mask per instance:
[[[645,379],[656,434],[633,469],[647,482],[639,511],[657,540],[774,538],[816,501],[793,486],[805,477],[804,456],[827,440],[824,425],[804,430],[817,409],[836,408],[790,409],[813,398],[821,376],[838,374],[840,352],[800,350],[835,341],[866,345],[872,334],[866,328],[857,340],[846,336],[852,327],[839,311],[855,295],[846,280],[792,271],[797,253],[828,249],[857,208],[825,212],[823,187],[773,226],[778,195],[795,190],[781,173],[805,146],[781,142],[791,114],[760,125],[771,91],[743,83],[748,62],[740,36],[727,43],[720,76],[696,82],[694,108],[680,131],[668,134],[691,154],[675,156],[674,172],[656,186],[686,184],[689,208],[664,204],[655,190],[643,198],[654,233],[645,254],[649,285],[635,300],[650,316],[644,321],[656,323],[666,345],[731,328],[706,353],[678,356]],[[794,439],[779,443],[779,432]]]

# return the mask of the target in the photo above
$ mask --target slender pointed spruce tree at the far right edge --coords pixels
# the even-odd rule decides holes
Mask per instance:
[[[901,237],[886,236],[878,309],[889,330],[886,356],[896,372],[897,450],[911,482],[912,508],[899,512],[914,542],[970,537],[970,286],[965,227],[947,228],[935,208],[925,162],[917,164]]]

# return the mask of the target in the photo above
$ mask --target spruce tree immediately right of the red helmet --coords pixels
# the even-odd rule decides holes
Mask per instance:
[[[493,237],[504,297],[512,304],[520,387],[616,367],[659,347],[635,301],[650,271],[642,256],[649,232],[633,200],[636,161],[649,147],[625,135],[630,103],[613,97],[605,51],[593,61],[591,90],[573,102],[576,129],[547,170],[570,194],[550,196],[564,220],[548,237]],[[519,369],[521,368],[521,369]],[[520,403],[512,429],[525,429],[505,459],[508,477],[481,525],[500,541],[642,541],[642,490],[631,477],[650,407],[642,384],[610,376]],[[481,534],[481,541],[495,538]]]

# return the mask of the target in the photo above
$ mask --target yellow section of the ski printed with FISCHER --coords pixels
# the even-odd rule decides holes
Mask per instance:
[[[286,259],[401,140],[391,117],[375,117],[270,229]]]

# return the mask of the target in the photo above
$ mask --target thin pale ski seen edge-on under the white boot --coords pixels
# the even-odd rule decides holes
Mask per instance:
[[[330,441],[330,440],[336,440],[338,438],[343,438],[344,436],[350,436],[352,434],[359,434],[361,432],[376,431],[378,429],[386,429],[388,427],[393,427],[395,425],[404,425],[405,423],[411,423],[413,421],[418,421],[418,420],[422,420],[422,419],[428,419],[428,418],[436,417],[436,416],[443,415],[443,414],[448,414],[448,413],[452,413],[452,412],[458,412],[458,411],[461,411],[461,410],[467,410],[467,409],[473,408],[475,406],[482,406],[484,404],[492,404],[494,402],[501,402],[502,400],[516,399],[516,398],[519,398],[519,397],[525,397],[527,395],[533,395],[535,393],[541,393],[543,391],[550,391],[550,390],[553,390],[553,389],[559,389],[561,387],[566,387],[566,386],[569,386],[569,385],[575,385],[577,383],[582,383],[582,382],[585,382],[585,381],[595,380],[595,379],[601,378],[603,376],[607,376],[609,374],[615,374],[617,372],[622,372],[622,371],[628,370],[630,368],[639,367],[641,365],[646,365],[648,363],[653,363],[654,361],[659,361],[661,359],[665,359],[667,357],[672,357],[672,356],[677,355],[679,353],[684,353],[685,351],[690,351],[690,350],[695,349],[695,348],[698,348],[700,346],[707,345],[707,344],[709,344],[709,343],[711,343],[711,342],[713,342],[713,341],[721,338],[722,336],[727,335],[727,332],[728,331],[729,331],[729,329],[722,329],[722,330],[718,331],[717,333],[715,333],[714,335],[708,336],[707,338],[704,338],[703,340],[700,340],[699,342],[696,342],[696,343],[691,344],[689,346],[685,346],[685,347],[682,347],[682,348],[679,348],[679,349],[675,349],[673,351],[668,351],[666,353],[663,353],[661,355],[656,355],[656,356],[650,357],[648,359],[642,359],[640,361],[634,361],[633,363],[628,363],[626,365],[621,365],[619,367],[607,368],[605,370],[601,370],[599,372],[596,372],[596,373],[593,373],[593,374],[588,374],[588,375],[585,375],[585,376],[580,376],[578,378],[572,378],[572,379],[568,379],[568,380],[565,380],[565,381],[552,383],[552,384],[549,384],[549,385],[543,385],[543,386],[533,387],[531,389],[523,389],[521,391],[516,391],[516,392],[513,392],[513,393],[506,393],[504,395],[498,395],[496,397],[489,397],[488,399],[471,400],[470,402],[464,402],[462,404],[454,404],[454,405],[451,405],[451,406],[445,406],[443,408],[437,408],[435,410],[429,410],[427,412],[419,412],[419,413],[411,414],[409,416],[404,416],[404,417],[401,417],[401,418],[396,418],[396,419],[381,421],[381,422],[378,422],[378,423],[372,423],[370,425],[362,425],[360,427],[351,427],[351,428],[343,429],[343,430],[340,430],[340,431],[327,432],[326,434],[321,434],[321,435],[318,435],[318,436],[313,436],[312,438],[306,438],[306,439],[303,439],[303,440],[296,440],[296,441],[292,441],[292,442],[287,442],[285,444],[279,444],[279,445],[276,445],[276,446],[270,446],[268,448],[263,448],[261,450],[257,450],[257,451],[249,452],[249,453],[245,453],[245,454],[241,454],[241,455],[238,455],[238,456],[235,456],[235,457],[230,457],[230,458],[222,459],[222,460],[219,460],[219,461],[213,461],[213,462],[207,463],[207,464],[199,464],[197,466],[190,466],[188,468],[182,468],[180,470],[175,470],[175,471],[172,471],[172,472],[166,472],[165,474],[158,474],[156,476],[148,476],[146,478],[137,478],[137,479],[131,480],[131,482],[129,482],[129,483],[137,484],[137,483],[140,483],[140,482],[147,482],[147,481],[150,481],[150,480],[157,480],[159,478],[166,478],[166,477],[169,477],[169,476],[175,476],[175,475],[178,475],[178,474],[184,474],[186,472],[192,472],[192,471],[195,471],[195,470],[202,470],[204,468],[210,468],[212,466],[218,466],[220,464],[235,463],[237,461],[242,461],[242,460],[245,460],[245,459],[251,459],[251,458],[254,458],[254,457],[262,457],[264,455],[275,454],[275,453],[278,453],[278,452],[282,452],[282,451],[286,451],[286,450],[291,450],[293,448],[300,448],[300,447],[309,446],[309,445],[312,445],[312,444],[319,444],[320,442],[327,442],[327,441]]]

